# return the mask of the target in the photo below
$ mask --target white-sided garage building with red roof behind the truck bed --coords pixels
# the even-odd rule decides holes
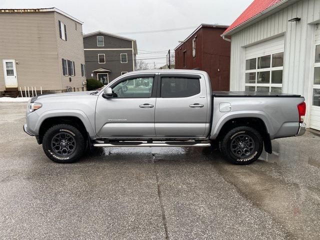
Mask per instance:
[[[305,97],[308,127],[320,130],[320,0],[254,0],[225,30],[230,90]]]

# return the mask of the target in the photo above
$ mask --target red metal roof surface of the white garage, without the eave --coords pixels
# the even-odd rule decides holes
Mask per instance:
[[[241,13],[241,15],[239,15],[238,18],[236,18],[236,20],[223,32],[223,34],[256,16],[270,6],[273,6],[279,1],[282,0],[253,0],[253,2]]]

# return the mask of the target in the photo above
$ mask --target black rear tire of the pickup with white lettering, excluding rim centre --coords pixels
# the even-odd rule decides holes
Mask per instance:
[[[238,136],[247,135],[253,140],[254,147],[248,155],[238,156],[231,150],[231,142]],[[234,144],[233,144],[234,145]],[[263,150],[263,140],[261,134],[254,128],[249,126],[237,126],[230,129],[220,140],[219,149],[223,157],[232,164],[245,165],[257,160]]]

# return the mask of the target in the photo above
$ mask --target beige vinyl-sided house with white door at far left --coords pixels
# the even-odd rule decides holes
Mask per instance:
[[[59,37],[59,20],[66,41]],[[0,96],[25,86],[42,92],[84,89],[81,21],[56,8],[0,9],[0,23]],[[63,75],[62,58],[74,61],[75,76]]]

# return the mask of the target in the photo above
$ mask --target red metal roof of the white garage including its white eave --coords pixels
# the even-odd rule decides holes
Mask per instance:
[[[222,35],[231,33],[240,25],[244,25],[256,17],[277,8],[278,6],[286,7],[297,0],[253,0],[253,2],[235,19],[235,21],[223,32]],[[284,4],[286,3],[286,4]],[[278,8],[280,10],[280,8]]]

